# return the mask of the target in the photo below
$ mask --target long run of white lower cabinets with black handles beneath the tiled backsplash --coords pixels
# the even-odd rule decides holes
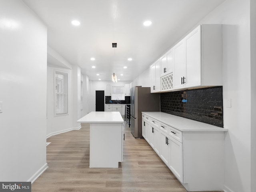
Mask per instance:
[[[181,131],[170,126],[171,120],[169,125],[161,122],[159,117],[154,119],[154,116],[142,113],[142,135],[186,190],[223,190],[224,131],[219,128],[209,131],[200,122],[186,125],[198,123],[201,130],[186,127]],[[184,128],[184,123],[180,125]]]

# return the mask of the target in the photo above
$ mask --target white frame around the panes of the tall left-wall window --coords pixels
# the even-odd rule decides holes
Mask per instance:
[[[64,75],[64,92],[63,93],[57,93],[56,92],[56,87],[57,87],[57,82],[56,82],[56,75]],[[65,112],[62,113],[57,113],[56,111],[56,103],[57,103],[57,95],[66,95],[66,101],[64,108],[66,108]],[[58,116],[65,116],[68,115],[68,72],[61,71],[61,70],[54,70],[54,117]]]

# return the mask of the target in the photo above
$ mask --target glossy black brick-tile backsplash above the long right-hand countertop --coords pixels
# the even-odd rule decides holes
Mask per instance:
[[[223,127],[222,86],[161,93],[161,112]]]

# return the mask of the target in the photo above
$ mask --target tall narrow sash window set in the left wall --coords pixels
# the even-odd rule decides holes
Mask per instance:
[[[54,72],[54,115],[61,116],[68,114],[68,74]]]

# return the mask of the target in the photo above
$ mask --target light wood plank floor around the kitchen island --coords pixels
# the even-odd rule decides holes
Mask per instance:
[[[144,139],[126,124],[119,168],[89,168],[88,124],[51,136],[49,168],[32,184],[32,192],[186,192]],[[104,157],[102,157],[104,158]]]

